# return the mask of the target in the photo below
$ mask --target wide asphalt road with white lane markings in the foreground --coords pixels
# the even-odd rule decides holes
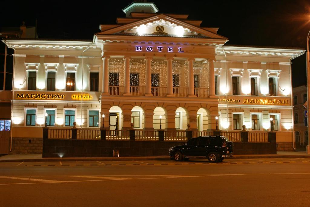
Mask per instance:
[[[310,206],[310,158],[0,163],[0,206]]]

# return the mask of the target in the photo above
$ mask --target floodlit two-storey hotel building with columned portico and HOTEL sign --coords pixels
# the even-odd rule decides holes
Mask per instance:
[[[5,42],[15,50],[12,142],[74,122],[200,132],[245,125],[255,133],[269,131],[273,118],[278,149],[293,150],[290,60],[302,49],[224,45],[219,28],[158,14],[151,2],[123,11],[92,41]]]

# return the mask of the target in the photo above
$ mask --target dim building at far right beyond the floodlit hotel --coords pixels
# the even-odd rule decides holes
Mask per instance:
[[[303,104],[307,101],[307,87],[299,86],[293,88],[293,105],[294,105],[294,131],[295,143],[297,150],[306,150],[308,145],[308,127],[305,125],[307,109]]]

